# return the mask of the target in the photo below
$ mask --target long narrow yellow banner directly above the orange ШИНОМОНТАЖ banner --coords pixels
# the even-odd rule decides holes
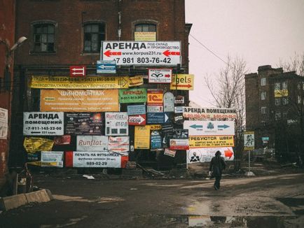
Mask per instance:
[[[127,89],[128,76],[32,76],[29,87],[35,89]]]

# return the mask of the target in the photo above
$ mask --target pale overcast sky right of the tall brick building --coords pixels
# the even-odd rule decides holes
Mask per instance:
[[[185,0],[191,35],[221,59],[242,57],[249,73],[258,66],[278,67],[295,52],[304,53],[304,0]],[[225,64],[189,37],[190,71],[195,75],[190,98],[200,106],[211,99],[203,77]]]

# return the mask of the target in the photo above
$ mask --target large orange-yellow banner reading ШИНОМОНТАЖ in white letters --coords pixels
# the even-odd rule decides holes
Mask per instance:
[[[41,112],[118,112],[118,90],[41,90]]]

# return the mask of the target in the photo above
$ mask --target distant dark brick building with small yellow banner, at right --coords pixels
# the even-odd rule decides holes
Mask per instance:
[[[245,76],[246,129],[255,132],[256,148],[303,150],[303,83],[295,71],[268,65]]]

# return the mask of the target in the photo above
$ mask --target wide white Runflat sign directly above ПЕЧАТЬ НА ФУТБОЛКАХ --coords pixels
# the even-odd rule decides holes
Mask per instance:
[[[108,136],[77,136],[77,151],[108,151]]]

